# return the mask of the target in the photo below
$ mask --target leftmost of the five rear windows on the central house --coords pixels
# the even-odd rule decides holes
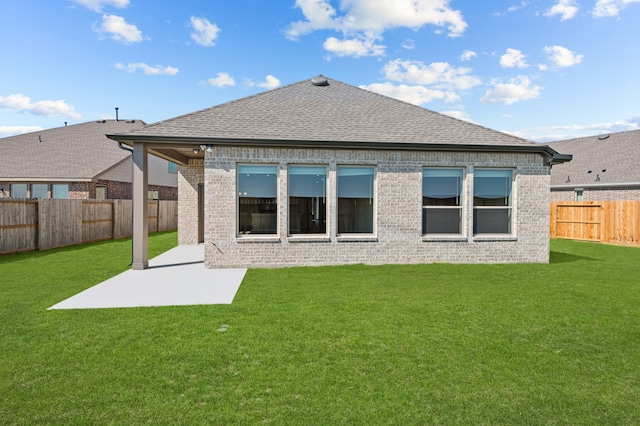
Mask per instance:
[[[238,165],[238,234],[278,233],[278,166]]]

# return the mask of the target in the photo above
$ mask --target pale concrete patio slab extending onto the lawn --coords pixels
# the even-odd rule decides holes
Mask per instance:
[[[205,269],[204,246],[178,246],[49,309],[216,305],[233,302],[246,269]]]

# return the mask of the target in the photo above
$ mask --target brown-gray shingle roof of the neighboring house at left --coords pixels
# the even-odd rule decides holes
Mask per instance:
[[[88,180],[129,156],[107,133],[144,126],[140,120],[100,120],[0,139],[0,180]]]

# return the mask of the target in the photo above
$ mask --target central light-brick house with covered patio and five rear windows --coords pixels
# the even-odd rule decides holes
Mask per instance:
[[[571,159],[323,76],[109,137],[181,164],[179,243],[210,268],[548,262],[549,170]]]

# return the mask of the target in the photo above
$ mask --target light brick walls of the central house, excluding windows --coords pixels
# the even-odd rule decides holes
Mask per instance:
[[[236,166],[279,166],[277,236],[236,235]],[[287,236],[287,167],[328,165],[326,236]],[[376,167],[374,238],[340,237],[336,224],[336,168],[343,164]],[[425,166],[462,167],[464,235],[427,239],[422,235],[422,170]],[[512,168],[513,235],[472,235],[475,167]],[[205,181],[205,265],[274,267],[385,263],[515,263],[549,260],[549,170],[537,154],[395,152],[320,149],[216,147],[202,166],[192,161],[180,170],[179,241],[195,244],[197,183]]]

